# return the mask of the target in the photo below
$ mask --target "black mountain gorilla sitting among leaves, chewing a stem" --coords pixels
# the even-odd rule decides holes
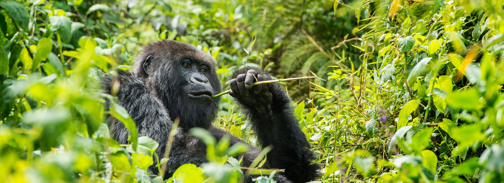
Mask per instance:
[[[195,46],[169,40],[148,44],[138,57],[132,72],[117,70],[117,75],[104,77],[103,93],[110,94],[114,83],[118,105],[124,107],[135,121],[140,136],[149,136],[159,143],[156,153],[163,157],[168,134],[175,119],[179,132],[175,135],[166,166],[165,177],[185,163],[201,165],[207,162],[206,146],[187,133],[193,127],[210,131],[217,140],[227,135],[230,143],[244,143],[223,130],[212,126],[218,112],[221,92],[217,77],[217,62]],[[306,182],[318,176],[319,165],[310,150],[305,134],[293,114],[285,89],[277,83],[252,86],[253,82],[270,80],[270,75],[259,68],[236,71],[230,81],[234,97],[246,114],[261,147],[272,145],[263,168],[285,169],[277,173],[278,182]],[[110,103],[106,103],[110,107]],[[128,143],[130,132],[114,120],[109,124],[113,138]],[[249,166],[261,152],[250,144],[248,151],[239,155],[242,166]],[[158,174],[154,165],[149,171]],[[248,178],[246,182],[251,182]]]

